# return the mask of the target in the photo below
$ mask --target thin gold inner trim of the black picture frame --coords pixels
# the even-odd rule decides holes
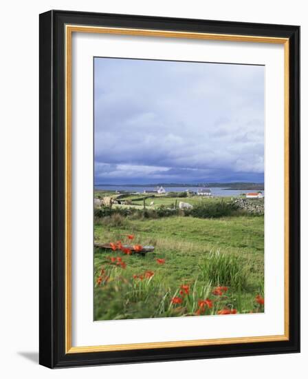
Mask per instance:
[[[206,39],[213,41],[238,41],[255,43],[279,43],[284,45],[284,300],[285,332],[277,336],[217,338],[207,340],[181,340],[168,342],[133,343],[123,345],[72,346],[72,33],[122,34],[142,37],[167,37]],[[65,25],[65,353],[91,353],[98,351],[123,351],[159,349],[166,347],[192,347],[229,345],[235,343],[270,342],[289,340],[289,39],[278,37],[244,36],[236,34],[212,34],[199,32],[175,32],[173,30],[147,30],[133,28],[107,28],[85,25]]]

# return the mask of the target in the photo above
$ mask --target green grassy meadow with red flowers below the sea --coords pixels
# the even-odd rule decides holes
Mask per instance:
[[[148,209],[174,207],[175,200],[206,209],[231,199],[142,197],[126,196],[130,205],[94,218],[95,243],[113,246],[94,249],[95,320],[264,311],[262,215],[157,217]],[[140,210],[125,215],[124,207]],[[153,252],[138,254],[137,247],[148,245]]]

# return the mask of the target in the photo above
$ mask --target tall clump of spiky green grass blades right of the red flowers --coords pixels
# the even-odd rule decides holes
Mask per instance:
[[[199,265],[203,280],[209,280],[212,285],[226,285],[243,289],[248,284],[248,272],[243,267],[239,256],[234,254],[210,252]]]

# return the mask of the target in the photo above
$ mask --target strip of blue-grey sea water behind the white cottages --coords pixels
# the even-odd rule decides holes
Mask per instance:
[[[197,192],[200,187],[164,187],[166,192],[184,192],[186,189],[189,191]],[[255,189],[227,189],[225,187],[208,187],[210,188],[212,196],[239,196],[241,194],[247,194],[248,192],[256,192]],[[125,191],[135,192],[142,194],[144,191],[153,191],[156,187],[130,187],[129,185],[96,185],[97,190],[106,191]],[[261,191],[264,194],[264,191]]]

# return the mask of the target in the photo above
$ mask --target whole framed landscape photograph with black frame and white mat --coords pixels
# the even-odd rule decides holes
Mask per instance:
[[[40,15],[40,363],[298,352],[300,28]]]

